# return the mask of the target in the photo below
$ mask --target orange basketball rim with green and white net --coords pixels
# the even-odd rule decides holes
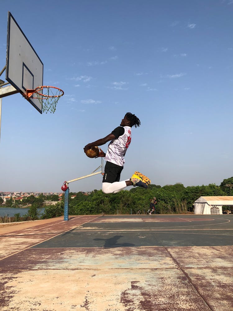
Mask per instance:
[[[60,97],[64,91],[55,86],[38,86],[34,90],[26,91],[26,98],[37,98],[42,105],[42,110],[46,114],[53,113]]]

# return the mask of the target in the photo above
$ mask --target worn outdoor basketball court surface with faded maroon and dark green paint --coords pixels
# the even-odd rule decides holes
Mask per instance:
[[[233,310],[231,215],[70,216],[0,227],[8,310]]]

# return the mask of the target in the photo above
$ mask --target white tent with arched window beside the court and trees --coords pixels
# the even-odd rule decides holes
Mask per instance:
[[[222,214],[223,205],[233,205],[233,196],[199,197],[194,202],[194,214]]]

